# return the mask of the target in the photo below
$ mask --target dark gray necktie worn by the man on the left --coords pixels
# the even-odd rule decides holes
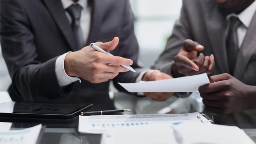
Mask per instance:
[[[80,26],[82,7],[78,4],[72,4],[66,10],[70,14],[70,17],[72,19],[71,27],[74,33],[74,38],[76,39],[77,49],[81,49],[82,47],[84,47],[83,32]]]

